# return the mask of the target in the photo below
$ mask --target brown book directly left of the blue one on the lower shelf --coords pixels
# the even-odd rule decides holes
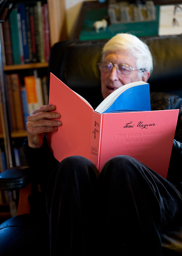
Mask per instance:
[[[12,94],[14,99],[14,109],[16,116],[17,130],[24,130],[23,110],[21,102],[20,80],[18,74],[11,74]]]

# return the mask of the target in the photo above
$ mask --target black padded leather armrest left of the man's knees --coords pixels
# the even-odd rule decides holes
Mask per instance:
[[[25,188],[31,181],[30,167],[16,166],[0,173],[0,189],[14,191]]]

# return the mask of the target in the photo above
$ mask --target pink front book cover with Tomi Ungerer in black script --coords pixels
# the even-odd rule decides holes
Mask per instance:
[[[129,155],[166,178],[178,112],[103,114],[99,170],[111,157]]]

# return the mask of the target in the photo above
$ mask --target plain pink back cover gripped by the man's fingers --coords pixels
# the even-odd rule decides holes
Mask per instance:
[[[53,74],[50,74],[49,104],[56,106],[63,123],[57,131],[47,134],[54,157],[58,161],[72,155],[89,159],[92,107]]]

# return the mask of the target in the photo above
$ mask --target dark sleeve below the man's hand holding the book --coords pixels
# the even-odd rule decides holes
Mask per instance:
[[[59,163],[51,154],[46,137],[44,137],[43,146],[38,149],[29,147],[26,138],[23,143],[23,151],[27,163],[32,169],[33,179],[37,180],[41,189],[45,191],[50,174]]]

